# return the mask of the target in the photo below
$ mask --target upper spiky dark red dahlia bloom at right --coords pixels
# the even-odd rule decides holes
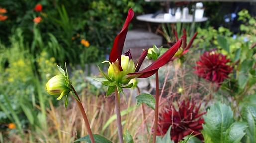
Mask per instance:
[[[207,51],[196,62],[195,73],[199,77],[221,84],[233,69],[228,65],[229,62],[230,59],[227,59],[225,55],[216,51]]]

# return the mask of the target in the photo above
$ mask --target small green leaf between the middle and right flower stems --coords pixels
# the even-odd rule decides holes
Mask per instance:
[[[141,103],[145,103],[148,107],[155,109],[155,98],[151,94],[143,93],[141,95],[138,95],[136,97],[137,99],[137,105],[140,105]]]

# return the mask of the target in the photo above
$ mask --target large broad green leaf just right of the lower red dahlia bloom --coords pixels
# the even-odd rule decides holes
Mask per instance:
[[[225,104],[212,105],[204,121],[202,132],[209,143],[239,143],[245,135],[246,124],[234,122],[233,112]]]

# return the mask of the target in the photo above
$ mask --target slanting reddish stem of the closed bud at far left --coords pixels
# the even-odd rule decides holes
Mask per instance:
[[[77,92],[76,92],[75,88],[73,86],[71,86],[71,88],[72,88],[73,92],[75,93],[76,97],[79,99],[79,100],[76,99],[76,102],[77,102],[77,105],[78,105],[82,115],[83,115],[83,118],[84,118],[84,121],[85,121],[85,126],[86,126],[86,129],[87,129],[89,138],[90,138],[92,143],[95,143],[94,138],[93,138],[93,133],[92,133],[87,115],[85,113],[85,110],[84,110],[84,107],[83,107],[82,103],[80,102],[81,100],[80,100],[79,96],[77,95]]]

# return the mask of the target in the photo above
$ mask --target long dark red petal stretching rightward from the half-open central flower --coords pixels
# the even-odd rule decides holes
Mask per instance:
[[[150,66],[143,69],[140,72],[130,73],[129,77],[139,77],[139,78],[147,78],[153,75],[160,67],[164,66],[168,63],[175,53],[178,51],[182,43],[182,40],[177,41],[171,48],[169,48],[161,57],[159,57],[155,62],[153,62]],[[139,75],[141,74],[141,75]]]

